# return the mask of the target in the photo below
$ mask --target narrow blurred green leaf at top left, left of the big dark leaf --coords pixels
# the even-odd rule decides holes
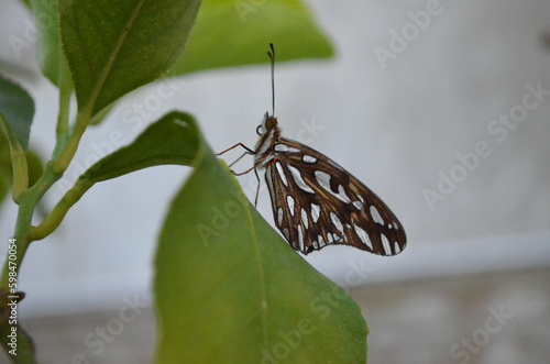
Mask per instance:
[[[59,24],[57,0],[31,0],[37,32],[37,56],[42,74],[59,86]]]

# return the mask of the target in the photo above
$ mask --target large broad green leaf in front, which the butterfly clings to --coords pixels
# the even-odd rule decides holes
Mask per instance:
[[[155,258],[157,363],[365,363],[359,306],[279,238],[202,141],[195,166]]]

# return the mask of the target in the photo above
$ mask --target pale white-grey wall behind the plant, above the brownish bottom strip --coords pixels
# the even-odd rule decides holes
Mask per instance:
[[[338,282],[362,260],[388,275],[403,272],[394,274],[397,279],[444,274],[448,266],[440,263],[447,261],[469,272],[548,265],[550,92],[540,100],[527,95],[530,87],[550,90],[550,48],[541,40],[550,32],[550,2],[441,1],[435,8],[433,1],[309,3],[337,56],[276,66],[279,123],[288,137],[296,137],[304,122],[323,126],[309,144],[376,191],[408,234],[407,250],[395,258],[329,247],[308,256],[312,264]],[[421,30],[409,13],[428,8],[433,15]],[[18,58],[7,44],[10,35],[24,36],[28,14],[13,0],[2,2],[1,9],[1,58],[36,69],[32,49],[23,49]],[[394,31],[415,30],[406,46],[402,44],[404,49],[396,49]],[[392,46],[394,59],[381,63],[375,51]],[[139,130],[121,120],[158,86],[125,98],[105,124],[84,137],[76,161],[85,164],[105,153],[101,143],[113,132],[129,143],[147,122],[173,109],[195,114],[217,151],[237,142],[254,145],[255,126],[271,109],[267,66],[197,74],[175,85],[176,93],[150,110],[151,118]],[[31,144],[47,155],[55,89],[38,77],[25,76],[24,86],[37,100]],[[532,110],[502,134],[503,125],[494,120],[520,115],[525,98]],[[470,155],[477,143],[485,143],[491,154],[480,157],[472,170],[461,167],[457,155]],[[248,163],[241,164],[243,169]],[[463,180],[430,208],[422,191],[441,192],[440,175],[451,172]],[[123,291],[146,295],[160,223],[187,173],[157,167],[94,187],[54,235],[30,249],[20,284],[31,298],[21,310],[67,312],[119,302]],[[250,179],[254,177],[243,177],[243,185]],[[44,209],[61,194],[54,187]],[[268,203],[264,191],[260,208],[271,221]],[[0,210],[0,236],[6,241],[14,212],[6,203]],[[3,256],[6,244],[0,246]]]

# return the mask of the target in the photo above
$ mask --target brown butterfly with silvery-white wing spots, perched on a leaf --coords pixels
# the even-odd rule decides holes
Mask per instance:
[[[273,91],[275,49],[270,46]],[[219,154],[242,146],[254,155],[254,165],[235,175],[254,169],[257,177],[257,170],[265,169],[275,225],[288,244],[302,254],[336,244],[386,256],[400,253],[405,230],[384,201],[326,155],[282,136],[273,113],[266,112],[257,126],[254,150],[238,143]]]

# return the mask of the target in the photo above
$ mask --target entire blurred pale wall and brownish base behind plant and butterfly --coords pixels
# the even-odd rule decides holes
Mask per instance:
[[[306,257],[362,306],[370,363],[548,363],[550,2],[306,3],[336,56],[276,65],[284,135],[370,186],[408,235],[407,249],[392,258],[342,246]],[[31,145],[50,155],[57,91],[40,76],[26,10],[15,0],[0,7],[2,68],[34,97]],[[15,52],[13,36],[29,46]],[[267,65],[220,69],[125,97],[85,135],[44,210],[85,166],[169,110],[193,113],[215,151],[253,146],[271,110],[270,77]],[[153,102],[160,88],[173,92]],[[55,234],[32,245],[19,308],[41,363],[152,362],[155,240],[188,174],[155,167],[99,184]],[[253,174],[240,181],[253,198]],[[273,222],[262,190],[260,210]],[[0,216],[7,241],[12,203]],[[116,326],[128,312],[135,315]]]

